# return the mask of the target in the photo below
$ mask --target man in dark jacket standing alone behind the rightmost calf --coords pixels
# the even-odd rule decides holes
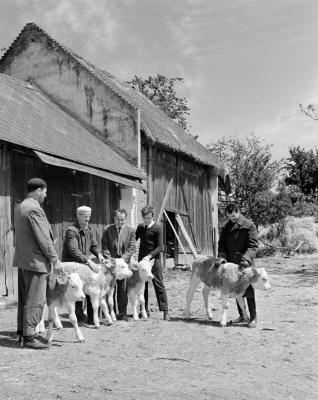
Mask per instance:
[[[225,214],[228,221],[223,225],[220,233],[218,249],[219,263],[226,261],[232,262],[239,264],[242,269],[255,266],[254,258],[258,249],[258,234],[255,224],[240,214],[236,204],[228,204],[225,209]],[[224,260],[222,260],[222,258]],[[256,303],[255,292],[252,285],[247,288],[244,297],[247,299],[250,312],[248,327],[255,328],[257,324]],[[238,303],[237,308],[240,315],[233,322],[240,323],[243,322],[244,319]]]

